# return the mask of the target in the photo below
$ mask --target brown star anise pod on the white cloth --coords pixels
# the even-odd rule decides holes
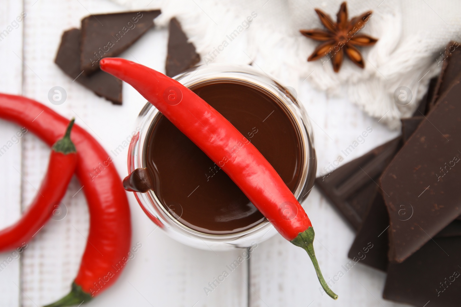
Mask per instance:
[[[363,68],[363,62],[360,51],[355,46],[372,46],[378,40],[368,35],[356,35],[372,16],[372,11],[353,17],[348,21],[348,13],[346,2],[341,4],[337,13],[337,22],[335,23],[331,17],[319,9],[315,9],[319,15],[321,23],[327,31],[320,29],[300,30],[301,34],[315,41],[324,41],[315,48],[314,52],[307,58],[307,61],[315,61],[325,55],[331,55],[333,70],[338,72],[343,64],[344,53],[357,66]]]

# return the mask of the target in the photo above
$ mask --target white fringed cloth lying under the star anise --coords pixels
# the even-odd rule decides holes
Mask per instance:
[[[167,26],[176,16],[201,55],[201,64],[253,64],[285,86],[297,88],[306,81],[330,94],[345,90],[351,102],[370,116],[382,117],[380,122],[391,128],[400,127],[399,119],[416,109],[429,79],[440,71],[446,44],[461,41],[459,0],[349,0],[349,18],[373,12],[360,33],[378,42],[359,47],[365,69],[345,57],[335,73],[327,57],[307,62],[319,42],[299,30],[323,29],[314,7],[336,20],[341,0],[112,1],[131,10],[160,8],[159,26]],[[408,105],[394,99],[401,86],[413,94]]]

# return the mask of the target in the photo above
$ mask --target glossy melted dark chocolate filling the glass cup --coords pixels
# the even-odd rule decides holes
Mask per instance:
[[[192,90],[256,146],[291,191],[296,190],[301,135],[278,98],[237,81],[213,81]],[[150,186],[180,223],[198,232],[231,234],[265,221],[219,165],[165,116],[154,119],[148,134],[144,156]]]

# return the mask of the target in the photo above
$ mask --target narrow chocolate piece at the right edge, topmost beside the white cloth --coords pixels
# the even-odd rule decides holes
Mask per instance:
[[[442,55],[442,70],[438,76],[434,88],[434,95],[429,100],[428,110],[432,110],[437,103],[437,99],[449,89],[451,83],[455,81],[461,71],[461,46],[457,42],[450,42]],[[426,113],[427,111],[426,110]]]

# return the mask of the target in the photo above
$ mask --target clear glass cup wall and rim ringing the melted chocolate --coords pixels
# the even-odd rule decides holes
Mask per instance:
[[[313,147],[312,127],[307,119],[307,113],[299,103],[292,90],[281,86],[277,81],[261,74],[251,66],[209,64],[196,66],[174,77],[185,87],[195,89],[204,84],[214,82],[236,82],[253,87],[273,98],[289,115],[294,127],[298,130],[301,147],[301,174],[294,191],[295,197],[301,203],[306,199],[313,186],[317,161]],[[128,151],[128,173],[136,168],[146,167],[146,148],[151,126],[161,116],[154,105],[147,103],[137,118],[139,132],[133,136]],[[155,192],[134,192],[136,200],[148,217],[159,225],[170,237],[178,242],[199,249],[230,250],[246,248],[251,243],[260,243],[272,237],[277,231],[272,224],[264,220],[258,225],[242,232],[231,234],[208,234],[199,232],[183,225],[172,214],[171,210],[162,205]]]

